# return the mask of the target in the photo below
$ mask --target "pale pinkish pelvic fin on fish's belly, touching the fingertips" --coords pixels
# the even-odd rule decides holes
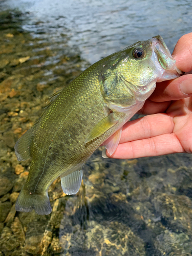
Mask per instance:
[[[105,148],[106,150],[108,150],[110,156],[115,152],[119,144],[121,133],[122,133],[122,127],[105,141]]]

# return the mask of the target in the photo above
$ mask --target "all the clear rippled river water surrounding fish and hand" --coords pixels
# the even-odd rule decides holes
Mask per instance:
[[[191,155],[106,160],[98,149],[79,193],[54,182],[52,214],[37,216],[14,210],[30,161],[13,148],[90,64],[157,34],[173,51],[191,32],[191,1],[7,0],[0,11],[0,255],[192,255]]]

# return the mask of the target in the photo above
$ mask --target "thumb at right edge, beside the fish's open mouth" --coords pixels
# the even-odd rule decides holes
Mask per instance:
[[[192,33],[183,35],[177,42],[173,51],[178,69],[183,72],[192,70]]]

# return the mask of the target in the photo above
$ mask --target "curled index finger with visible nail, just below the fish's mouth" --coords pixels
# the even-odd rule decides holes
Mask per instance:
[[[157,83],[156,89],[149,99],[155,102],[163,102],[184,99],[190,96],[192,96],[192,74]]]

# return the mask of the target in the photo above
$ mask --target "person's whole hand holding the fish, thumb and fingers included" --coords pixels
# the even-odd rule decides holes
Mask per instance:
[[[173,52],[177,67],[192,70],[192,33],[182,36]],[[192,152],[192,74],[157,83],[138,114],[147,116],[123,126],[116,151],[103,157],[138,158]]]

